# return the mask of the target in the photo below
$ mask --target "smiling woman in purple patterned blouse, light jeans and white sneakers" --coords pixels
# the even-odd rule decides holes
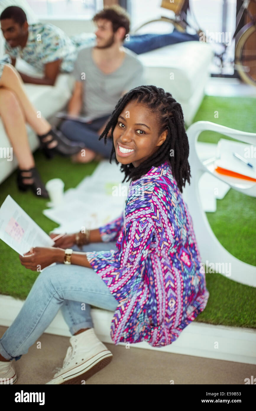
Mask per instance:
[[[73,348],[48,384],[81,383],[111,361],[93,333],[90,305],[115,311],[115,344],[156,347],[172,344],[205,309],[205,272],[181,194],[190,167],[180,104],[153,85],[134,88],[119,100],[100,138],[106,141],[110,130],[111,158],[131,179],[125,210],[105,226],[62,236],[55,247],[36,247],[21,258],[31,270],[47,268],[0,339],[0,374],[1,356],[6,367],[4,358],[27,353],[60,307]],[[75,244],[84,244],[81,252]]]

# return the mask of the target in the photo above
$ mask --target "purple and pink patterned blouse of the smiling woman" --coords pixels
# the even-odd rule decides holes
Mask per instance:
[[[209,292],[192,219],[168,162],[131,182],[125,212],[100,227],[117,250],[87,252],[118,301],[111,339],[166,346],[205,309]]]

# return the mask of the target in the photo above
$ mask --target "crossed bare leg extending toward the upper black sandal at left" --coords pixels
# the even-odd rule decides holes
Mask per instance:
[[[21,109],[23,110],[26,122],[28,122],[37,134],[46,134],[51,130],[51,125],[44,117],[40,118],[38,116],[38,112],[26,95],[23,84],[24,83],[17,70],[12,65],[6,64],[0,79],[0,87],[15,92]],[[45,141],[47,141],[47,139]],[[57,141],[52,141],[48,144],[48,148],[55,147],[57,144]]]

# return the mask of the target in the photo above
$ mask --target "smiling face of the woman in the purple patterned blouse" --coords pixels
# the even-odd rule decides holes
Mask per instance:
[[[157,116],[142,103],[129,102],[118,117],[113,131],[115,155],[119,163],[138,167],[151,157],[167,136],[158,135]]]

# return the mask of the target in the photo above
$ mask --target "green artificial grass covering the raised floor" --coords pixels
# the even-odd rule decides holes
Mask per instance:
[[[205,96],[194,122],[206,120],[235,129],[255,132],[256,99]],[[214,118],[218,111],[219,118]],[[217,143],[221,135],[203,132],[198,141]],[[222,138],[227,138],[222,136]],[[55,157],[48,161],[41,152],[34,153],[35,162],[44,182],[61,178],[65,190],[76,187],[90,175],[97,162],[73,164],[70,159]],[[48,200],[30,192],[21,193],[16,187],[16,172],[0,185],[0,205],[10,194],[37,224],[49,233],[59,224],[42,214]],[[206,213],[214,234],[221,244],[238,259],[256,265],[256,199],[230,189],[224,199],[217,200],[217,211]],[[0,294],[25,300],[39,273],[21,266],[18,254],[0,241]],[[241,277],[243,273],[241,272]],[[210,298],[205,310],[195,319],[198,322],[256,328],[255,289],[232,281],[221,274],[206,273]]]

